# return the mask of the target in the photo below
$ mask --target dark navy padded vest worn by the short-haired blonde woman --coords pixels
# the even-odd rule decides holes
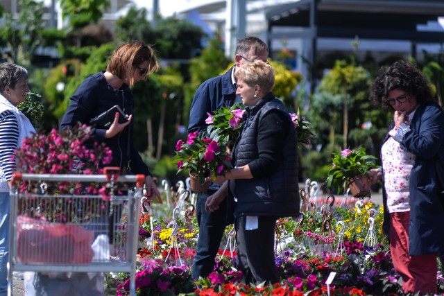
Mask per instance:
[[[247,118],[241,135],[234,144],[235,166],[244,166],[259,157],[258,130],[261,120],[268,112],[282,112],[290,125],[283,141],[282,160],[277,171],[264,177],[230,180],[230,189],[237,203],[235,216],[298,216],[300,199],[298,194],[298,141],[289,112],[284,104],[268,94],[254,107],[247,108]]]

